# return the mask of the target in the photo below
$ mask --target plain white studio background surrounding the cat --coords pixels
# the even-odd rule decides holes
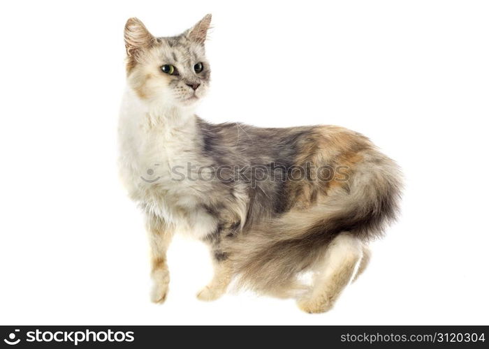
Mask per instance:
[[[3,1],[0,323],[488,324],[486,1]],[[175,239],[149,302],[143,219],[117,176],[122,32],[213,14],[207,120],[338,124],[402,166],[400,221],[333,311],[196,300],[200,242]]]

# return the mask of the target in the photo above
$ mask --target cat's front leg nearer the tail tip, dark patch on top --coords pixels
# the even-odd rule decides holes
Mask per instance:
[[[210,283],[197,293],[197,298],[205,302],[214,301],[224,295],[233,276],[233,268],[226,253],[215,250],[212,259],[214,276]]]

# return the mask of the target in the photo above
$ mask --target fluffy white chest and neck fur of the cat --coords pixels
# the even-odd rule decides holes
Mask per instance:
[[[177,230],[201,238],[217,228],[203,205],[211,190],[205,180],[189,177],[189,168],[205,165],[191,111],[148,107],[126,91],[119,119],[119,171],[145,211]]]

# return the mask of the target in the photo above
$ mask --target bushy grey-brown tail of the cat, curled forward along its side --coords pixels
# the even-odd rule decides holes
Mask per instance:
[[[363,241],[382,235],[395,220],[402,184],[397,165],[376,156],[353,169],[309,209],[291,210],[229,239],[226,251],[238,288],[289,297],[297,276],[314,265],[331,240],[349,232]]]

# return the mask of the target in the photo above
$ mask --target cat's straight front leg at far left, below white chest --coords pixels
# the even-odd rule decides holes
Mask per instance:
[[[154,303],[163,303],[170,282],[170,273],[166,265],[166,251],[173,237],[174,228],[162,218],[152,214],[146,216],[146,228],[151,246],[151,276],[153,279],[151,300]]]

